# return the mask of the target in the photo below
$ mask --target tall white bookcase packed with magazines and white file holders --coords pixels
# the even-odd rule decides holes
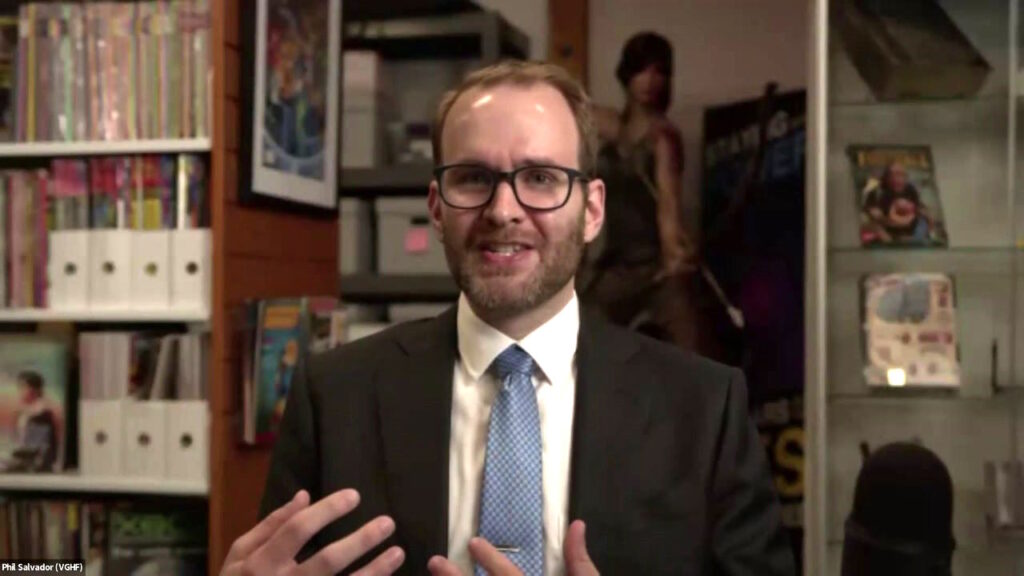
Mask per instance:
[[[0,558],[207,572],[224,11],[0,6]]]

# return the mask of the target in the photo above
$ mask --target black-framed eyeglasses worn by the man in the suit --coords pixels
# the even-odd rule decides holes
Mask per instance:
[[[511,172],[479,164],[449,164],[434,168],[441,200],[453,208],[480,208],[490,204],[498,184],[512,187],[519,204],[531,210],[557,210],[569,201],[573,180],[586,183],[583,172],[564,166],[530,165]]]

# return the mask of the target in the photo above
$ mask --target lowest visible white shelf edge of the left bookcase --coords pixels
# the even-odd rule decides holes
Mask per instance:
[[[91,477],[75,471],[40,474],[0,474],[0,491],[95,492],[110,494],[154,494],[206,496],[209,486],[203,481],[154,479],[142,477]]]

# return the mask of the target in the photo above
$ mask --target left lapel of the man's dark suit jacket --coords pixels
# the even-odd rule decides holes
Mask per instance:
[[[379,375],[384,483],[407,566],[426,566],[431,556],[447,553],[455,319],[452,307],[404,333],[398,341],[404,354]]]

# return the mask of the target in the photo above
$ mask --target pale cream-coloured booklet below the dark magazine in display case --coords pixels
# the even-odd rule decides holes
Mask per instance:
[[[952,278],[943,274],[869,275],[861,288],[867,384],[958,386]]]

